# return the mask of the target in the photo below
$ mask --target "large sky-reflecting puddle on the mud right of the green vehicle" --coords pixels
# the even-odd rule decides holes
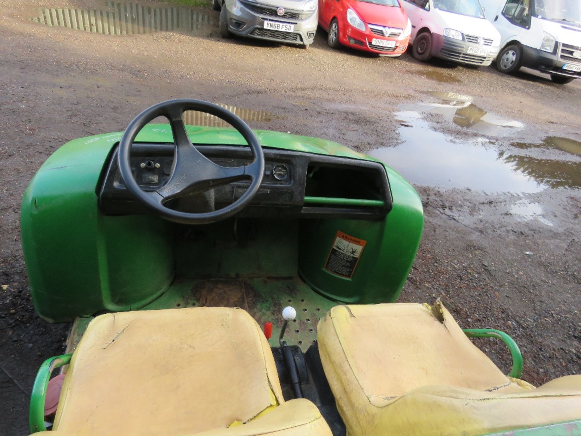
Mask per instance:
[[[434,130],[419,112],[394,114],[402,144],[371,152],[414,184],[526,194],[581,186],[581,163],[499,151],[486,138],[458,140]],[[516,149],[518,150],[518,149]]]

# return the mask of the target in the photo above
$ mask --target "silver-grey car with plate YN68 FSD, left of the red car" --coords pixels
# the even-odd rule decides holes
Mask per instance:
[[[318,0],[213,0],[223,38],[240,35],[309,48],[318,22]]]

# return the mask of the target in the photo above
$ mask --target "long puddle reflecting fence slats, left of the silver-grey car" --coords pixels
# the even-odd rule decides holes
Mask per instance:
[[[200,33],[211,35],[214,18],[209,12],[185,7],[158,7],[107,0],[99,9],[38,10],[35,23],[66,27],[102,35],[134,35],[155,32]]]

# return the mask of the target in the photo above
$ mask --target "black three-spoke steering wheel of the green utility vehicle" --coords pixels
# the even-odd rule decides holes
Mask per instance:
[[[252,163],[241,167],[224,167],[217,165],[202,155],[193,146],[185,131],[182,116],[186,110],[198,110],[227,121],[248,142],[252,150]],[[164,116],[170,121],[175,146],[174,162],[167,183],[157,191],[146,192],[139,187],[131,172],[131,145],[139,131],[149,121],[159,116]],[[125,187],[131,194],[139,202],[165,219],[182,224],[213,223],[235,215],[252,201],[264,175],[264,152],[258,138],[250,130],[248,124],[229,110],[201,100],[168,100],[145,109],[125,129],[121,142],[119,142],[118,156],[121,178],[123,178]],[[217,186],[233,183],[244,178],[251,179],[248,190],[239,199],[222,209],[211,212],[190,213],[180,212],[166,205],[169,200],[178,198],[184,191],[187,191],[188,194],[205,192]]]

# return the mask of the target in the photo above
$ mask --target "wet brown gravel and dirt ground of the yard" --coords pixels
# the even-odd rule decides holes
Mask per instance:
[[[7,285],[0,289],[0,434],[27,434],[35,373],[62,352],[69,328],[38,319],[30,300],[19,238],[26,185],[64,142],[123,130],[142,109],[174,97],[264,110],[273,116],[249,121],[251,127],[328,138],[358,151],[406,153],[416,141],[406,136],[411,127],[427,132],[422,143],[436,135],[450,149],[496,153],[493,161],[520,174],[524,191],[512,178],[503,189],[472,186],[482,181],[474,177],[456,186],[457,168],[442,183],[420,184],[401,169],[425,205],[424,237],[401,301],[441,297],[462,327],[507,331],[521,346],[523,378],[533,384],[581,373],[581,157],[543,146],[546,137],[580,140],[581,81],[555,85],[529,71],[504,76],[493,67],[422,64],[407,54],[334,51],[322,30],[309,50],[221,40],[209,8],[198,10],[207,20],[192,33],[113,37],[30,20],[41,8],[87,4],[0,5],[0,281]],[[438,101],[426,91],[469,95],[483,112],[520,127],[482,132],[478,124],[462,125],[464,115],[452,122],[425,105]],[[401,160],[388,163],[399,170]],[[468,174],[480,166],[478,156],[462,164]],[[502,344],[478,343],[509,370]]]

